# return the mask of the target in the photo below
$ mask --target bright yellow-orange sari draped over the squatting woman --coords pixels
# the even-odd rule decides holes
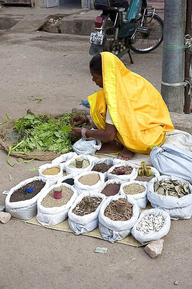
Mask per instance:
[[[103,88],[87,97],[98,129],[105,129],[107,107],[118,130],[116,140],[136,153],[149,154],[174,129],[161,94],[110,52],[102,57]]]

